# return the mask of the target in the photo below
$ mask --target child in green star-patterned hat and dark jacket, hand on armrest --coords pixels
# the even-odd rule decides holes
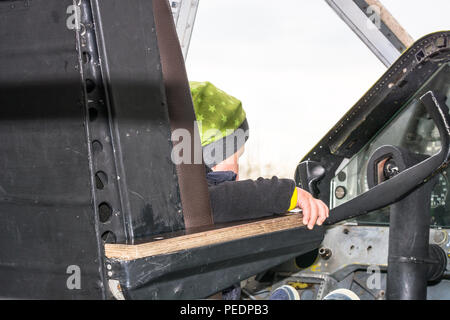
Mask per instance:
[[[290,179],[238,181],[239,157],[248,139],[242,103],[209,82],[191,82],[215,223],[252,220],[300,208],[312,229],[328,217],[321,200]]]

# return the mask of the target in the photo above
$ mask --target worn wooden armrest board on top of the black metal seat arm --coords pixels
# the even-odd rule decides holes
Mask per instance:
[[[134,260],[303,227],[301,214],[187,234],[137,245],[105,244],[107,258]]]

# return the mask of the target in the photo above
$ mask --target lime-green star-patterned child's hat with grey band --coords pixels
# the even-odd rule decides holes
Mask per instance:
[[[212,83],[191,81],[190,87],[205,162],[214,165],[231,156],[247,141],[247,117],[240,100],[216,88]],[[242,132],[245,132],[245,138],[237,139],[236,134],[241,137]],[[225,140],[228,139],[235,141],[233,146],[226,145]],[[223,145],[224,154],[217,155],[213,161],[210,159],[211,151],[218,144]],[[212,154],[214,155],[214,151]]]

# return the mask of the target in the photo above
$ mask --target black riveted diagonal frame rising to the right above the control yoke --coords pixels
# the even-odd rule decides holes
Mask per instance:
[[[329,204],[330,182],[344,161],[357,154],[442,63],[450,61],[450,31],[418,40],[405,51],[375,85],[342,117],[302,159],[323,165],[326,175],[318,183],[319,198]],[[299,181],[296,181],[299,184]]]

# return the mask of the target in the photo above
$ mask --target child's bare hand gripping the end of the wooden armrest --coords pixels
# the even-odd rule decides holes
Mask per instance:
[[[308,229],[314,228],[317,223],[322,225],[326,218],[329,217],[329,209],[323,201],[315,199],[309,192],[297,188],[298,200],[297,206],[303,211],[303,224]]]

